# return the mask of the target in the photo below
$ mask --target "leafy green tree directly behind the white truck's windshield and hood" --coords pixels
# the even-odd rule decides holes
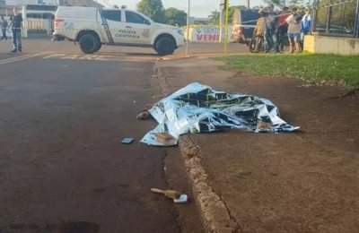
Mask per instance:
[[[150,17],[154,22],[164,22],[164,9],[161,0],[141,0],[137,11]]]

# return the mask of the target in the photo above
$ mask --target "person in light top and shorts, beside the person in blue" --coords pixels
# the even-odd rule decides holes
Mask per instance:
[[[297,8],[292,9],[292,14],[285,20],[288,23],[289,52],[293,53],[294,45],[297,53],[301,52],[301,15]]]

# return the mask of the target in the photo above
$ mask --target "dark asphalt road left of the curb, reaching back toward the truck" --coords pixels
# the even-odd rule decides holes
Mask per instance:
[[[138,142],[155,125],[136,120],[158,94],[153,55],[29,41],[0,45],[0,232],[201,232],[194,203],[149,192],[171,188],[166,157],[179,156]]]

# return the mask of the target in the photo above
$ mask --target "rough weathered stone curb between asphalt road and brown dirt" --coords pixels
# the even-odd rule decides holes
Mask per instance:
[[[162,69],[155,65],[163,95],[169,93],[169,84],[163,75]],[[232,218],[223,199],[215,194],[212,186],[208,184],[206,169],[202,166],[202,154],[199,146],[190,134],[183,135],[179,142],[180,154],[188,171],[194,200],[200,211],[202,224],[207,232],[241,232],[241,227]]]

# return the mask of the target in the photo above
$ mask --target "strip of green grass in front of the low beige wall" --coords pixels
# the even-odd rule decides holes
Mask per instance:
[[[225,67],[268,76],[300,78],[315,83],[359,86],[359,56],[241,55],[219,58]]]

